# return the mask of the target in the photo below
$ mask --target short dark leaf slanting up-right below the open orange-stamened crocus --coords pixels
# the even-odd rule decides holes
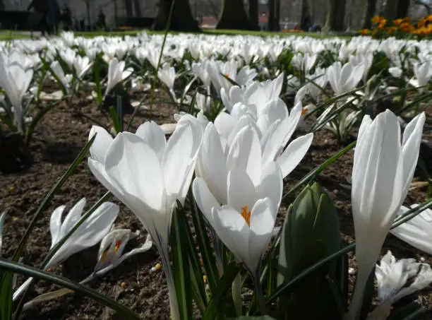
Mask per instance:
[[[232,282],[234,281],[238,273],[239,273],[239,266],[234,262],[229,263],[228,266],[224,268],[224,274],[222,275],[222,278],[220,278],[220,281],[217,284],[217,288],[215,292],[213,292],[212,299],[210,300],[210,303],[208,304],[208,307],[205,310],[203,320],[215,319],[217,313],[220,310],[224,309],[221,308],[222,298],[227,296],[227,292],[229,289],[231,289]]]

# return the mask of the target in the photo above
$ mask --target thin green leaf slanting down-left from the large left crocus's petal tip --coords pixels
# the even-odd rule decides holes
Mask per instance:
[[[20,239],[20,243],[18,244],[18,248],[16,249],[15,253],[13,254],[13,261],[17,262],[18,259],[20,259],[21,254],[23,253],[23,249],[25,247],[25,244],[27,243],[28,237],[30,237],[30,232],[32,232],[33,228],[35,227],[37,220],[40,218],[40,215],[42,215],[43,211],[49,203],[51,202],[52,198],[54,197],[54,194],[56,194],[57,191],[61,188],[61,186],[64,185],[68,177],[70,177],[73,172],[75,172],[76,167],[80,164],[81,161],[83,161],[83,158],[88,153],[88,150],[90,149],[90,146],[92,146],[93,141],[95,141],[96,134],[88,141],[88,143],[84,146],[84,148],[80,151],[80,153],[76,156],[75,160],[73,160],[70,167],[68,167],[68,170],[63,174],[63,176],[59,179],[59,181],[52,186],[52,189],[49,190],[47,196],[42,200],[42,203],[40,203],[39,208],[37,208],[37,211],[32,218],[30,225],[27,227],[27,230],[25,230],[23,237]]]

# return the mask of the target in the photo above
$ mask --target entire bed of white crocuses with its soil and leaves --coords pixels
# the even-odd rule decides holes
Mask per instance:
[[[431,41],[64,32],[0,88],[0,319],[432,319]]]

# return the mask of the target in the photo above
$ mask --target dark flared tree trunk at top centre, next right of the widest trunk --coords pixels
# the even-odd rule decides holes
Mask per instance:
[[[250,30],[248,15],[243,0],[223,0],[217,29]]]

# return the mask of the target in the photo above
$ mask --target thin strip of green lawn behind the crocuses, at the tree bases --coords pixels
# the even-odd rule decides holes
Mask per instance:
[[[75,32],[76,35],[83,37],[97,37],[100,35],[110,36],[110,37],[121,37],[124,35],[137,35],[141,30],[125,30],[125,31],[86,31],[86,32]],[[163,31],[152,31],[147,30],[151,34],[163,35]],[[207,35],[256,35],[260,37],[289,37],[292,35],[301,37],[315,37],[315,38],[329,38],[329,37],[342,37],[349,39],[352,35],[331,35],[320,32],[270,32],[270,31],[248,31],[248,30],[220,30],[220,29],[206,29],[203,31]],[[178,34],[179,32],[169,32],[170,34]],[[17,39],[28,39],[30,38],[30,32],[26,31],[10,31],[10,30],[0,30],[0,41],[9,41]]]

